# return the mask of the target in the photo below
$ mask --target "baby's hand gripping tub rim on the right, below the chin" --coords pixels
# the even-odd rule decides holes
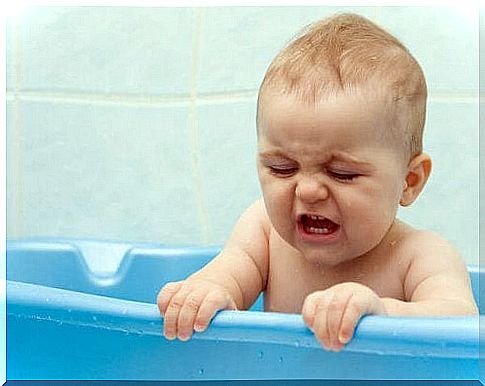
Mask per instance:
[[[328,350],[340,351],[352,339],[363,315],[385,315],[379,296],[358,283],[341,283],[307,296],[303,320]]]

